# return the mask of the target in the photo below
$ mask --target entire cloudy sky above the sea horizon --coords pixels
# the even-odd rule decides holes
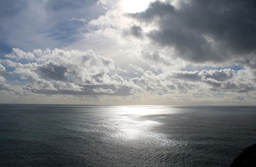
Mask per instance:
[[[1,0],[0,103],[255,105],[254,0]]]

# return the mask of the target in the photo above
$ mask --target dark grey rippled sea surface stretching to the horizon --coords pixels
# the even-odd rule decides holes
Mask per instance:
[[[229,166],[253,106],[0,104],[0,166]]]

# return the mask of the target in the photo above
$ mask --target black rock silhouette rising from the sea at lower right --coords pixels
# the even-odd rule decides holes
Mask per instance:
[[[256,167],[256,144],[243,150],[229,167]]]

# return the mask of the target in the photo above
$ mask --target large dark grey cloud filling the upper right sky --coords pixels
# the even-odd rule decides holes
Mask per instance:
[[[155,23],[152,42],[174,47],[178,56],[194,62],[220,62],[255,56],[256,1],[181,1],[178,8],[156,1],[142,13],[141,22]],[[249,56],[249,58],[250,58]]]

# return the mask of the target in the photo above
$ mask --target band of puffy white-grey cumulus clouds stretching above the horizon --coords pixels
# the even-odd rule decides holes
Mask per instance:
[[[17,62],[19,58],[23,63]],[[33,61],[29,62],[28,59]],[[246,96],[255,91],[255,74],[250,67],[240,70],[226,68],[180,71],[169,68],[153,71],[130,64],[130,70],[139,74],[127,75],[127,71],[115,65],[111,58],[97,55],[92,50],[62,49],[37,49],[31,52],[14,49],[0,63],[0,72],[3,76],[0,78],[1,93],[10,91],[23,96],[107,95],[145,99],[152,95],[163,98],[175,97],[176,100],[192,100],[197,97],[199,100],[206,98],[206,94],[215,98],[225,93],[224,97],[241,101],[246,100]],[[9,72],[6,72],[3,65],[10,68]],[[10,86],[4,79],[6,74],[18,77],[24,84]]]

